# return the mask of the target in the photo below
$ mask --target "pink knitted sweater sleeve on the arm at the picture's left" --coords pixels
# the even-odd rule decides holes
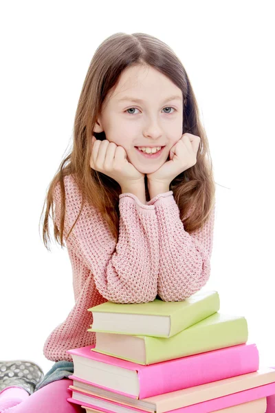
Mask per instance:
[[[157,295],[159,239],[155,206],[142,204],[131,193],[119,195],[119,235],[116,243],[100,212],[84,203],[72,175],[65,176],[64,235],[68,248],[93,273],[99,293],[115,303],[153,301]],[[56,224],[59,228],[61,189],[54,188]],[[66,239],[67,238],[67,239]]]

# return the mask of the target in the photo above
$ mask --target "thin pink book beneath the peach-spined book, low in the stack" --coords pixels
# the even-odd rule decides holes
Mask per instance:
[[[256,388],[251,388],[248,390],[243,390],[242,392],[237,392],[233,394],[228,394],[226,396],[219,397],[217,399],[211,399],[203,401],[201,403],[189,405],[186,407],[180,407],[175,410],[166,410],[166,413],[209,413],[209,412],[219,412],[219,410],[226,409],[227,407],[240,405],[242,403],[248,403],[249,401],[262,399],[263,397],[275,394],[275,382],[261,385]],[[100,399],[100,398],[96,398]],[[102,399],[101,399],[102,400]],[[89,407],[90,410],[96,410],[98,412],[104,413],[147,413],[149,410],[139,410],[135,407],[129,407],[122,405],[121,403],[113,402],[110,408],[98,407],[98,405],[93,405],[91,403],[85,403],[84,401],[76,400],[72,397],[67,399],[70,403],[75,403],[85,407]],[[125,408],[126,407],[126,408]],[[154,412],[150,410],[150,412]],[[155,410],[159,412],[159,410]]]

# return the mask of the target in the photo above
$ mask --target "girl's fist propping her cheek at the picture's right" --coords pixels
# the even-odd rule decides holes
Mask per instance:
[[[192,134],[183,134],[170,149],[170,160],[153,173],[146,173],[150,183],[170,184],[179,173],[197,163],[197,151],[201,138]]]

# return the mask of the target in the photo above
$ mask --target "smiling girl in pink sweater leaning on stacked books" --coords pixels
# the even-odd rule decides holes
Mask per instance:
[[[95,342],[88,308],[179,301],[200,290],[210,276],[214,194],[208,139],[183,65],[153,36],[113,34],[91,61],[74,147],[47,193],[43,240],[47,247],[52,208],[76,302],[45,341],[50,372],[21,403],[14,392],[22,385],[4,388],[0,411],[4,401],[14,406],[9,413],[85,412],[67,401],[74,366],[66,350]]]

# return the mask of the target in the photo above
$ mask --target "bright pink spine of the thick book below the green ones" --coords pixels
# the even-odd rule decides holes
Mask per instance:
[[[140,368],[137,373],[139,399],[256,372],[258,369],[259,351],[256,344],[240,344],[152,364]]]

